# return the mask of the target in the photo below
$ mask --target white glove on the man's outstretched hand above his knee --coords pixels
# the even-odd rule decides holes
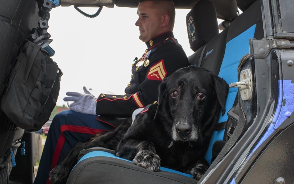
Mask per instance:
[[[85,94],[78,92],[67,92],[66,95],[69,97],[63,98],[65,102],[73,101],[74,103],[70,104],[70,110],[96,115],[96,97],[92,95],[89,90],[84,86],[83,87]]]

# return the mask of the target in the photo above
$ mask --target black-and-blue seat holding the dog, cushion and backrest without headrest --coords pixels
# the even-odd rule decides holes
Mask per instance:
[[[195,6],[197,5],[198,3]],[[195,28],[200,29],[199,26],[195,26]],[[188,32],[189,29],[190,25],[188,24]],[[213,71],[216,75],[226,80],[228,84],[236,82],[238,79],[237,67],[240,59],[249,53],[250,38],[263,38],[260,0],[233,20],[231,25],[224,29],[223,32],[198,48],[189,57],[189,63]],[[193,49],[197,47],[199,45],[195,47],[191,45]],[[200,58],[202,58],[201,62],[199,62]],[[219,123],[227,121],[227,112],[232,108],[237,90],[236,88],[229,89],[226,113],[224,116],[220,115]],[[213,132],[205,155],[205,159],[209,164],[211,164],[213,144],[217,140],[223,140],[223,137],[224,129]],[[151,172],[134,165],[131,161],[109,155],[111,153],[100,148],[95,148],[94,150],[90,152],[89,150],[81,151],[82,159],[71,171],[67,183],[191,183],[191,178],[187,177],[187,175],[178,174],[175,171]]]

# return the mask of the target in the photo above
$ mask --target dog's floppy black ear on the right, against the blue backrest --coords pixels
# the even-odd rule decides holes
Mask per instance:
[[[217,94],[217,100],[220,103],[221,108],[223,109],[221,115],[224,116],[226,112],[226,99],[228,95],[229,86],[224,79],[215,76],[214,77],[214,89]]]

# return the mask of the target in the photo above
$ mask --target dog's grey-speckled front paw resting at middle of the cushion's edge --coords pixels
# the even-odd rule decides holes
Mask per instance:
[[[143,150],[139,151],[133,159],[134,164],[144,167],[151,171],[160,170],[160,158],[152,151]]]

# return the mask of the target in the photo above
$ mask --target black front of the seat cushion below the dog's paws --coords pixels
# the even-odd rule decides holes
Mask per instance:
[[[93,151],[89,154],[94,154]],[[104,151],[103,151],[104,152]],[[104,152],[105,153],[105,152]],[[85,155],[85,156],[87,156]],[[105,154],[104,154],[105,155]],[[106,154],[107,155],[107,154]],[[67,184],[190,184],[197,180],[170,171],[149,171],[124,159],[108,156],[90,156],[80,160],[71,171]]]

